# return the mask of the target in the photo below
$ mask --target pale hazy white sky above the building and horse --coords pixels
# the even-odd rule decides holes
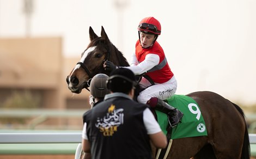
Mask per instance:
[[[89,27],[129,60],[144,17],[160,21],[157,40],[178,81],[176,94],[214,91],[240,103],[256,103],[256,1],[0,0],[0,38],[61,36],[63,56],[80,57]],[[70,68],[71,70],[72,68]]]

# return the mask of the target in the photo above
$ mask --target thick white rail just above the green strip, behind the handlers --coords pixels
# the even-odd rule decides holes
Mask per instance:
[[[19,132],[0,133],[0,144],[6,143],[81,143],[82,133],[80,132]],[[249,134],[251,144],[256,144],[256,134]]]

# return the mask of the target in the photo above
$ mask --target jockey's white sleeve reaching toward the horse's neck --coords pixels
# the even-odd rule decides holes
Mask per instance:
[[[146,55],[143,62],[137,65],[135,65],[134,63],[132,66],[128,66],[125,68],[130,69],[135,75],[141,75],[144,72],[154,68],[154,66],[158,65],[159,62],[160,62],[160,57],[157,54],[149,53]]]

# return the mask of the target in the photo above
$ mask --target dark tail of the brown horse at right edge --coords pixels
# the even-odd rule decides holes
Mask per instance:
[[[242,109],[237,106],[235,103],[233,103],[237,111],[242,115],[243,120],[245,121],[245,113],[243,113]],[[245,121],[246,124],[246,121]],[[245,127],[245,134],[243,136],[243,148],[242,148],[242,154],[241,159],[249,159],[251,157],[251,148],[250,148],[250,142],[249,142],[249,133],[247,130],[247,124]]]

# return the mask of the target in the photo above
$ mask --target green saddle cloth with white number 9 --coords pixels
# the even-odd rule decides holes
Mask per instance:
[[[186,95],[174,95],[166,101],[184,114],[181,123],[173,127],[171,139],[208,135],[203,115],[196,101]],[[163,133],[167,134],[167,114],[160,111],[156,111],[156,114]]]

